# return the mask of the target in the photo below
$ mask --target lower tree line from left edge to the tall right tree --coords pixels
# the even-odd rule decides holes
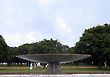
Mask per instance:
[[[61,44],[58,40],[44,39],[36,43],[26,43],[19,47],[9,47],[3,37],[0,37],[0,62],[6,62],[8,65],[12,63],[27,62],[19,59],[16,55],[24,54],[73,54],[73,47]]]

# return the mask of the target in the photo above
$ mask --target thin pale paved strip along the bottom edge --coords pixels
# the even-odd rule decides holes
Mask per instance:
[[[110,77],[110,74],[0,75],[0,77]]]

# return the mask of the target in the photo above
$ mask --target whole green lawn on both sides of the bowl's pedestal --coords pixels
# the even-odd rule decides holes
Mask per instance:
[[[0,74],[42,74],[46,72],[46,68],[34,67],[32,70],[26,66],[0,66]],[[91,66],[61,66],[61,70],[65,74],[95,74],[95,73],[109,73],[110,68],[103,68],[102,70],[97,67]]]

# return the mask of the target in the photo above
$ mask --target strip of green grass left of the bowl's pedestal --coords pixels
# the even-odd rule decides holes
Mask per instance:
[[[29,67],[0,67],[0,74],[30,74],[30,73],[44,73],[46,72],[45,68],[41,67],[34,67],[32,70],[30,70]]]

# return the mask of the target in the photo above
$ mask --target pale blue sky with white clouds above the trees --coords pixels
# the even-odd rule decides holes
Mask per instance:
[[[85,29],[110,23],[110,0],[0,0],[0,35],[9,46],[57,39],[74,46]]]

